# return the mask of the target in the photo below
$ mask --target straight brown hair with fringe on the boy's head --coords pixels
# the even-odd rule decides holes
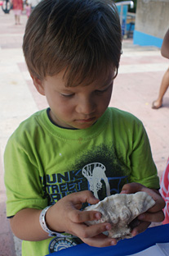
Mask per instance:
[[[42,0],[26,25],[23,51],[31,75],[43,80],[65,70],[67,85],[118,73],[121,25],[111,0]]]

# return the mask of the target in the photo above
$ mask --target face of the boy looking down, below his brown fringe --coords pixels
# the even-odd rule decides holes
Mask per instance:
[[[47,98],[51,120],[58,126],[86,129],[105,112],[113,89],[114,71],[100,75],[91,85],[65,87],[64,71],[47,76],[42,82],[33,78],[40,94]]]

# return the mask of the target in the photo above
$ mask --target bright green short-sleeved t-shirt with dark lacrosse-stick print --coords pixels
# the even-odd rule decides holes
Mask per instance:
[[[91,190],[99,199],[119,193],[122,185],[139,182],[158,189],[142,122],[109,107],[84,130],[55,126],[47,109],[23,121],[5,151],[7,217],[23,208],[45,208],[66,194]],[[23,242],[23,256],[42,256],[60,249],[63,240]],[[65,248],[74,245],[64,241]],[[64,247],[64,246],[63,246]]]

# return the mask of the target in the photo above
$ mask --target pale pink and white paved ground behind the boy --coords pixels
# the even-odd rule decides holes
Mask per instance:
[[[14,14],[0,10],[0,255],[19,256],[20,240],[11,234],[6,219],[6,194],[3,184],[3,153],[7,139],[16,127],[33,112],[47,107],[44,97],[33,88],[24,64],[21,49],[27,18],[15,25]],[[110,105],[131,112],[145,125],[152,147],[153,159],[161,176],[169,150],[169,94],[163,107],[151,108],[158,96],[162,75],[169,62],[161,57],[160,49],[139,47],[132,39],[123,41],[122,58],[117,79],[114,81]],[[10,161],[10,159],[9,159]]]

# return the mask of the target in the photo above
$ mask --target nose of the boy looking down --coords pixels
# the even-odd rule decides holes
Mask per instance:
[[[80,114],[89,115],[96,110],[96,103],[92,98],[81,98],[79,100],[76,111]]]

